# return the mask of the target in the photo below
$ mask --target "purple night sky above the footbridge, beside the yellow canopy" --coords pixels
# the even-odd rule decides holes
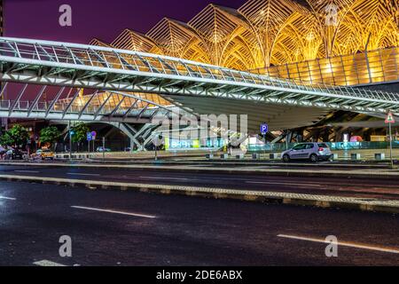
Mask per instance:
[[[239,8],[246,0],[4,0],[5,36],[89,43],[112,42],[124,28],[146,33],[164,17],[187,22],[207,4]],[[59,26],[59,6],[70,4],[73,26]]]

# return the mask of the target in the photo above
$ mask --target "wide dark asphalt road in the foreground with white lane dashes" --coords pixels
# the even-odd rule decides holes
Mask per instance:
[[[0,265],[399,265],[397,252],[395,215],[0,183]]]

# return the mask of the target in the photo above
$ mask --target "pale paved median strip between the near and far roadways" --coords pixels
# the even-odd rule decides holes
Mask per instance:
[[[80,179],[66,179],[55,177],[26,177],[0,175],[0,180],[30,182],[52,185],[84,186],[90,190],[135,190],[143,193],[176,194],[213,199],[239,200],[262,202],[268,204],[291,204],[299,206],[312,206],[317,208],[355,209],[381,213],[399,213],[399,201],[337,197],[301,193],[274,193],[245,190],[232,190],[221,188],[192,187],[179,185],[145,185],[116,182],[100,182]]]

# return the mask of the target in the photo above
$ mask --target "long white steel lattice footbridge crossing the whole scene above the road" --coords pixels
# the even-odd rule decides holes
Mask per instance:
[[[387,112],[387,110],[397,112],[399,107],[396,94],[357,90],[350,87],[332,87],[325,84],[303,84],[155,54],[12,38],[1,38],[0,44],[3,46],[0,48],[3,54],[0,56],[0,64],[5,71],[0,73],[0,79],[3,81],[51,83],[67,87],[162,95],[249,99],[271,104],[317,106],[377,113]],[[9,45],[13,48],[7,48]],[[34,46],[41,46],[41,48],[35,49]],[[20,56],[15,52],[16,47],[20,51]],[[52,51],[51,57],[43,59],[41,57],[43,54],[40,53],[43,49]],[[66,52],[67,50],[71,52]],[[63,51],[62,56],[59,55],[60,51]],[[87,53],[95,54],[94,59],[88,59]],[[80,63],[74,63],[76,56],[79,56]],[[50,59],[54,57],[58,59],[58,62]],[[42,60],[32,58],[42,58]],[[127,62],[141,63],[137,63],[137,70],[127,70],[121,64],[114,63],[119,62],[120,58]],[[18,68],[15,69],[16,65],[17,67],[23,65],[25,68],[18,70]],[[12,69],[9,70],[11,66]],[[57,75],[43,75],[43,72],[40,72],[43,68],[51,67],[59,68]],[[176,69],[179,70],[179,75],[176,75]],[[33,72],[37,75],[33,76]],[[39,76],[39,73],[42,75]],[[80,74],[84,76],[80,77]],[[282,92],[282,95],[270,97],[268,95],[270,92],[275,94]],[[297,96],[286,98],[287,94]],[[317,100],[318,98],[320,99]],[[352,102],[360,101],[364,104],[351,105]]]

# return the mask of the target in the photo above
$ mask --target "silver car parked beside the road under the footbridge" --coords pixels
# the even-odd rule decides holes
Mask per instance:
[[[301,143],[281,154],[284,162],[309,160],[311,162],[329,161],[332,152],[325,143]]]

